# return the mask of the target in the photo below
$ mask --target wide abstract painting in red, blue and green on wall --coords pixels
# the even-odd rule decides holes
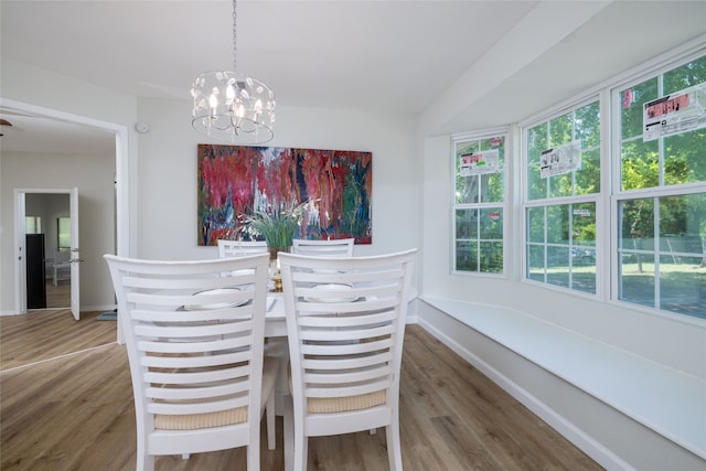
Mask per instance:
[[[199,144],[199,245],[253,238],[255,212],[302,205],[296,238],[372,244],[373,154]]]

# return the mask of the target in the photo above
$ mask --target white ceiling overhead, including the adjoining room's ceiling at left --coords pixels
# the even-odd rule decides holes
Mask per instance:
[[[137,97],[189,99],[196,73],[234,68],[227,0],[0,8],[3,58]],[[237,69],[267,83],[279,106],[414,114],[434,132],[458,132],[525,118],[705,24],[706,1],[240,0]],[[0,111],[13,124],[0,129],[3,150],[115,143],[84,126]]]

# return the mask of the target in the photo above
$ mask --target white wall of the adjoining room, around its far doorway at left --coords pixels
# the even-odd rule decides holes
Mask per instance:
[[[106,309],[115,303],[103,254],[115,251],[114,174],[115,156],[63,156],[2,152],[0,154],[2,200],[2,313],[14,312],[14,189],[78,188],[82,310]],[[68,200],[66,197],[66,200]],[[68,212],[68,203],[66,203]],[[42,222],[44,232],[55,220]],[[54,232],[55,234],[55,232]],[[46,237],[46,256],[56,245]],[[53,245],[52,245],[53,244]]]

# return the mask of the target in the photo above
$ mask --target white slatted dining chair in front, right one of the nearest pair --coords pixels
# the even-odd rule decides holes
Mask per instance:
[[[309,437],[385,427],[402,470],[399,373],[416,249],[373,257],[280,254],[290,356],[286,468],[306,470]]]

